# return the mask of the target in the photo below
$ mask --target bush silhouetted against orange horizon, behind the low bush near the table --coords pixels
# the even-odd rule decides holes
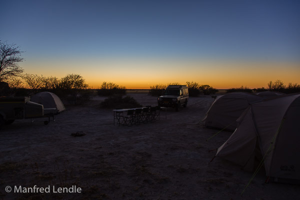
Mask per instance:
[[[111,96],[114,94],[125,94],[126,87],[119,86],[113,82],[102,82],[100,89],[97,91],[100,96]]]

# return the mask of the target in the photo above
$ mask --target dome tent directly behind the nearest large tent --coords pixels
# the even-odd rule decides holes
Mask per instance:
[[[248,107],[249,103],[263,98],[247,92],[231,92],[215,98],[203,119],[206,127],[234,130],[236,119]]]

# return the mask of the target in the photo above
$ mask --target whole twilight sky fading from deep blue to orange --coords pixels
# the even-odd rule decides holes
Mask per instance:
[[[24,73],[126,88],[300,84],[299,0],[9,0],[0,40]]]

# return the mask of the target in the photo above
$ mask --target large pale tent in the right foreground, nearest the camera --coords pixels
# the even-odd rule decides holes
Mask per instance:
[[[300,94],[253,103],[238,127],[216,152],[245,169],[263,160],[266,175],[277,181],[300,180]]]

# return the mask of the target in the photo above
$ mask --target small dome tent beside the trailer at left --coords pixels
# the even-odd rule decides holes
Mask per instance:
[[[32,102],[42,104],[44,108],[56,108],[57,112],[65,110],[60,98],[48,91],[42,91],[33,95],[30,99]]]

